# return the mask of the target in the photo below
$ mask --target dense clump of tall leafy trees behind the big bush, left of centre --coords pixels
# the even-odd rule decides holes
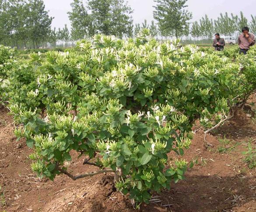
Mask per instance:
[[[133,34],[133,10],[125,0],[82,0],[71,3],[68,12],[71,37],[79,40],[97,33],[131,37]]]

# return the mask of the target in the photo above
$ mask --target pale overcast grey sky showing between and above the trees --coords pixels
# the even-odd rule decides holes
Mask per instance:
[[[46,10],[49,10],[50,16],[54,17],[53,27],[59,28],[67,24],[70,27],[70,21],[67,11],[71,10],[72,0],[44,0]],[[240,3],[239,3],[240,2]],[[153,20],[154,0],[128,0],[133,8],[134,23],[148,22]],[[210,18],[216,18],[220,13],[228,12],[239,14],[242,11],[245,17],[250,19],[250,14],[256,15],[256,0],[188,0],[187,9],[193,13],[193,20],[198,21],[200,17],[208,14]]]

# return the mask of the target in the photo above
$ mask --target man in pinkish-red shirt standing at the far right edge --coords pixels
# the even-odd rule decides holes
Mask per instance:
[[[247,54],[247,51],[250,49],[252,45],[255,44],[255,36],[252,33],[249,33],[248,27],[242,28],[242,34],[238,36],[238,45],[240,48],[240,54]]]

